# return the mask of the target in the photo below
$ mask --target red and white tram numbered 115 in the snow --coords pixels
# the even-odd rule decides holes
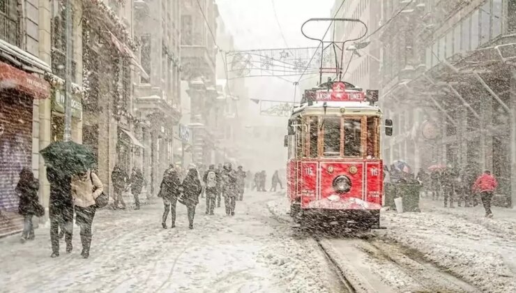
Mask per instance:
[[[384,168],[377,96],[367,91],[366,101],[353,84],[327,82],[306,90],[294,107],[285,147],[287,195],[297,223],[325,218],[317,223],[379,228]]]

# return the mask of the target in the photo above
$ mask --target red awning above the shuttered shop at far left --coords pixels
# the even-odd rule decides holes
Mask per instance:
[[[0,62],[0,89],[18,89],[34,98],[49,98],[50,84],[35,75]]]

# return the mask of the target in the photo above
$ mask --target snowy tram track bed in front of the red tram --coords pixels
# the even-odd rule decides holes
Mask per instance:
[[[278,223],[293,225],[288,216],[269,211]],[[381,234],[328,234],[294,227],[293,236],[317,243],[314,249],[326,257],[333,279],[338,277],[347,292],[480,292],[425,255]]]

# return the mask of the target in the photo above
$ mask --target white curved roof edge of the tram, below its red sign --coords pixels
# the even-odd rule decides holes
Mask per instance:
[[[294,107],[292,116],[296,116],[298,114],[325,114],[324,102],[314,102],[312,105],[303,103],[298,107]],[[381,110],[378,106],[370,105],[368,102],[326,102],[326,114],[363,114],[380,116]]]

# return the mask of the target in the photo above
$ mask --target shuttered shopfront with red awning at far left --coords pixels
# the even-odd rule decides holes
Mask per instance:
[[[2,62],[0,84],[0,236],[4,236],[22,230],[15,188],[20,171],[33,169],[33,99],[50,96],[50,86]]]

